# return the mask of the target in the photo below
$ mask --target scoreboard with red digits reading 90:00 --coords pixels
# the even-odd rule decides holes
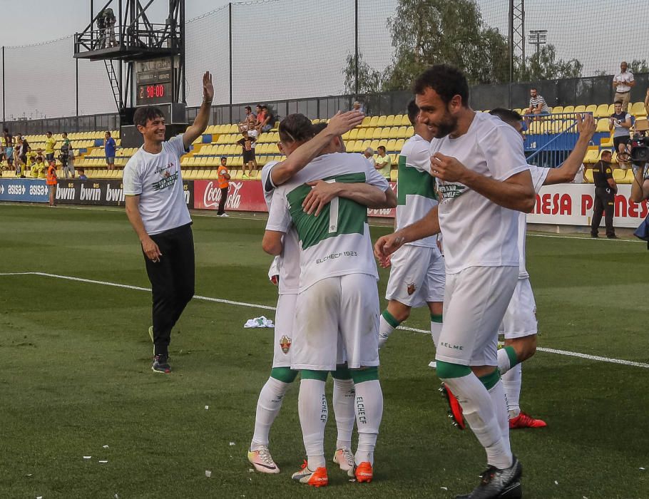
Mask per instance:
[[[173,98],[173,76],[178,66],[171,58],[136,63],[136,106],[169,104]]]

